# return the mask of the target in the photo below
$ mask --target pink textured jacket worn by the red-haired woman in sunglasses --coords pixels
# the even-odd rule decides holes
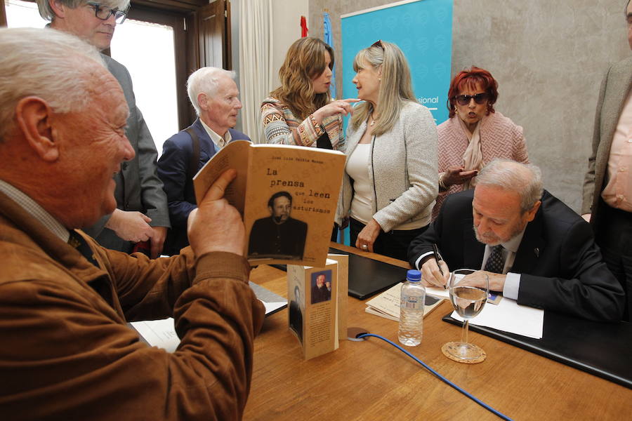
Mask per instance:
[[[444,121],[437,127],[439,135],[439,173],[448,168],[463,165],[463,154],[469,144],[468,137],[457,120],[459,116]],[[517,126],[511,119],[499,112],[485,117],[480,124],[480,151],[483,165],[494,158],[513,159],[514,161],[529,163],[527,145],[522,135],[522,127]],[[433,208],[433,220],[439,215],[441,204],[448,194],[461,192],[463,185],[452,185],[447,192],[440,192],[437,203]]]

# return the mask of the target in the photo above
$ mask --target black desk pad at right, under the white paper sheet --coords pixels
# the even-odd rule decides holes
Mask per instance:
[[[461,326],[449,314],[443,320]],[[542,339],[471,323],[470,330],[632,388],[631,323],[599,323],[546,311]]]

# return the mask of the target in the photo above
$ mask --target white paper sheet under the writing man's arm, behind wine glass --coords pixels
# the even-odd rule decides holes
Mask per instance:
[[[452,312],[452,317],[463,321],[456,312]],[[544,329],[544,310],[518,305],[515,300],[503,298],[499,305],[485,304],[482,312],[470,319],[470,324],[541,339]]]

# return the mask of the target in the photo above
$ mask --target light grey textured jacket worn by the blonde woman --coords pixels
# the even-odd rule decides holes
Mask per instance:
[[[366,121],[357,130],[348,126],[347,160],[366,129]],[[438,194],[438,165],[437,126],[428,108],[406,102],[393,129],[371,139],[367,166],[374,186],[373,219],[384,232],[404,224],[424,227],[430,223]],[[349,215],[352,199],[353,186],[345,172],[336,211],[338,224]]]

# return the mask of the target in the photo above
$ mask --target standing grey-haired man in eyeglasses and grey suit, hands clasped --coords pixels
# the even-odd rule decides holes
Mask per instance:
[[[117,23],[124,22],[129,0],[37,0],[37,6],[41,17],[51,21],[51,28],[79,36],[103,51],[110,48]],[[129,72],[116,60],[102,57],[123,88],[130,110],[125,133],[136,157],[122,163],[121,171],[114,175],[117,209],[84,230],[102,246],[125,253],[131,253],[135,243],[150,241],[150,255],[157,258],[170,227],[166,194],[157,175],[158,153],[143,114],[136,107]]]

